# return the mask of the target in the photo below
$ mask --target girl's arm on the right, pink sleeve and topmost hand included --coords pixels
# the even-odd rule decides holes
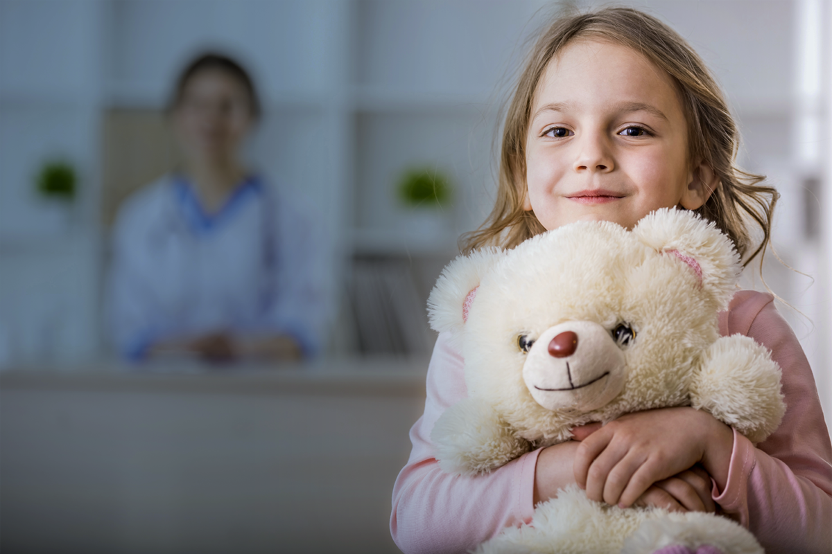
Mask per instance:
[[[709,414],[691,408],[627,414],[583,441],[576,479],[590,498],[632,503],[650,483],[700,462],[713,499],[766,552],[827,552],[832,544],[832,445],[809,363],[773,297],[737,293],[721,333],[740,332],[770,349],[783,370],[786,414],[756,448]]]

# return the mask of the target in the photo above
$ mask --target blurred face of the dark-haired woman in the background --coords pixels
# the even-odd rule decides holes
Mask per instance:
[[[186,158],[216,163],[234,159],[254,120],[245,86],[209,69],[186,82],[173,121]]]

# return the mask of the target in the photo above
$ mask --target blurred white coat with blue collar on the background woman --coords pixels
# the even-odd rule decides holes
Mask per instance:
[[[306,355],[324,340],[329,250],[290,199],[260,179],[206,215],[167,175],[122,206],[113,236],[111,333],[141,359],[156,341],[213,331],[288,334]]]

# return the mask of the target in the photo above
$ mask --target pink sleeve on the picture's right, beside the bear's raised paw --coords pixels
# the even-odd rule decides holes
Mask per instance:
[[[714,500],[738,517],[765,552],[830,552],[832,445],[815,379],[773,297],[740,292],[722,317],[724,335],[742,333],[771,351],[783,370],[786,413],[756,447],[734,433],[726,489]]]

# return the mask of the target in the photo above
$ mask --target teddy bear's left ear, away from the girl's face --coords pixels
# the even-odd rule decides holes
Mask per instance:
[[[428,317],[433,331],[463,328],[479,283],[503,255],[499,248],[483,248],[468,256],[458,256],[442,270],[428,297]]]

